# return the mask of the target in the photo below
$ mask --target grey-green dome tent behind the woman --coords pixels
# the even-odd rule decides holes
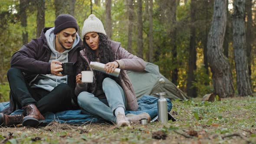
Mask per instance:
[[[189,99],[176,85],[161,75],[158,65],[146,62],[143,72],[127,71],[127,73],[138,99],[143,95],[158,97],[156,95],[158,92],[166,92],[167,98],[170,99]]]

